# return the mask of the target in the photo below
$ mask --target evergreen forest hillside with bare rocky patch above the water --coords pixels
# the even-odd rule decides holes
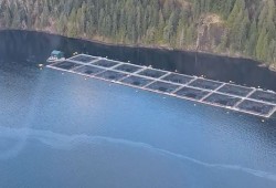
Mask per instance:
[[[204,49],[276,63],[275,3],[275,0],[2,0],[0,25],[112,43]]]

